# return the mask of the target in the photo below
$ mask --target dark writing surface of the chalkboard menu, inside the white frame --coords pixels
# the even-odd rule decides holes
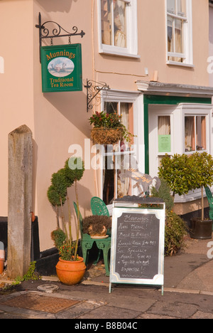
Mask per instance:
[[[116,272],[121,278],[158,274],[160,220],[155,214],[122,213],[117,223]]]

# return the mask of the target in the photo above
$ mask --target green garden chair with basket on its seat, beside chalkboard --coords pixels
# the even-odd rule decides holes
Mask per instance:
[[[77,204],[73,202],[74,208],[75,208],[75,213],[77,215]],[[88,259],[89,259],[89,250],[92,249],[92,246],[94,243],[96,243],[97,248],[99,250],[98,252],[98,258],[97,260],[94,261],[94,265],[97,265],[101,250],[103,251],[103,256],[104,256],[104,265],[105,265],[105,270],[106,270],[106,276],[109,276],[109,250],[111,248],[111,237],[108,238],[100,238],[100,239],[94,239],[91,238],[91,236],[88,235],[88,233],[83,233],[83,228],[82,228],[82,214],[80,213],[80,233],[81,233],[81,247],[82,247],[82,255],[84,258],[84,263],[87,266]]]

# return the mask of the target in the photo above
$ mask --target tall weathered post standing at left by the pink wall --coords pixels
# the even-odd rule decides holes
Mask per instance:
[[[32,132],[26,125],[9,134],[8,273],[23,277],[31,263],[33,178]]]

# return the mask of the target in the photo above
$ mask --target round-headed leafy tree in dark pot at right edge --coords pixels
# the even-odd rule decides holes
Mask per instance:
[[[190,236],[198,239],[212,238],[212,220],[204,219],[203,187],[213,184],[212,155],[203,153],[165,155],[161,160],[159,177],[165,179],[173,194],[187,194],[193,189],[202,191],[201,218],[193,218]]]

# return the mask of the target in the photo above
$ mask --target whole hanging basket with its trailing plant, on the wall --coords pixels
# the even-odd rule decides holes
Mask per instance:
[[[122,124],[121,118],[122,115],[117,113],[95,112],[89,118],[90,125],[93,125],[91,138],[94,144],[116,144],[122,138],[131,142],[133,134]]]

